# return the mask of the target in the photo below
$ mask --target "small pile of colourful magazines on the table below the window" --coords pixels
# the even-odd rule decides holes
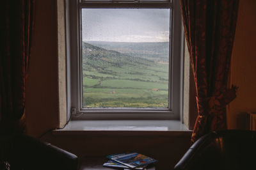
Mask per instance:
[[[132,169],[157,162],[154,158],[147,157],[140,153],[120,153],[109,155],[108,158]]]

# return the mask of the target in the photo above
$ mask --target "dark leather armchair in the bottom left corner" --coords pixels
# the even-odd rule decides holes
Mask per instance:
[[[1,136],[0,143],[0,160],[8,162],[10,170],[77,169],[76,155],[28,135]]]

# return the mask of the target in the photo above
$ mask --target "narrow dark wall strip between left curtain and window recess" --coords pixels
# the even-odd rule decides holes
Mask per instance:
[[[29,76],[26,82],[27,132],[35,137],[58,126],[58,35],[56,1],[35,1]]]

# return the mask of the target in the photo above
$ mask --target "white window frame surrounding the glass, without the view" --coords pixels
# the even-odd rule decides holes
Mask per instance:
[[[83,1],[65,0],[67,42],[67,111],[73,120],[182,120],[184,34],[179,0],[166,1]],[[81,9],[82,8],[171,8],[168,109],[84,109],[81,84]],[[175,43],[174,43],[175,42]],[[70,112],[69,112],[70,111]]]

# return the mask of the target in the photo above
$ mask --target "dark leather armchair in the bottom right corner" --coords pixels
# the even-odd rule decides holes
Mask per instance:
[[[174,169],[256,169],[256,132],[224,130],[204,135]]]

